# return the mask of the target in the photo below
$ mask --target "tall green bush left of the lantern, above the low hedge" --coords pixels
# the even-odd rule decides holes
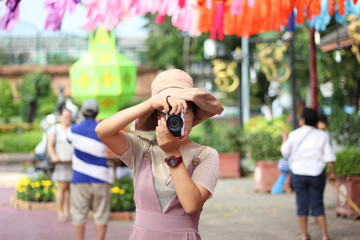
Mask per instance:
[[[25,122],[33,122],[37,113],[44,116],[54,111],[56,96],[51,89],[49,75],[40,72],[26,74],[20,92],[20,111]]]

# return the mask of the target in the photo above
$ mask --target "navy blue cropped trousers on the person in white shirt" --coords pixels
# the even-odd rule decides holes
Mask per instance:
[[[319,176],[291,174],[291,183],[296,193],[297,215],[324,216],[325,170]]]

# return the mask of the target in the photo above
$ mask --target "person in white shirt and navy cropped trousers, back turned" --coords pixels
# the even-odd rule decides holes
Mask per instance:
[[[328,240],[324,211],[325,167],[329,165],[329,180],[335,180],[335,154],[326,132],[316,129],[317,112],[305,108],[300,119],[300,128],[287,137],[283,135],[281,153],[289,158],[291,181],[296,193],[297,215],[302,231],[302,240],[310,239],[307,233],[309,209],[316,218],[323,240]]]

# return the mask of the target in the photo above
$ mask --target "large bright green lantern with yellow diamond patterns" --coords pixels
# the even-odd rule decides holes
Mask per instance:
[[[98,119],[124,106],[135,93],[136,66],[116,51],[115,37],[103,28],[89,36],[89,52],[70,68],[71,95],[75,100],[96,99]]]

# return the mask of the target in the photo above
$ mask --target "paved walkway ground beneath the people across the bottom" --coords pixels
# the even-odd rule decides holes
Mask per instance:
[[[12,178],[7,182],[6,176],[10,175]],[[71,223],[57,222],[55,212],[15,210],[8,206],[8,199],[14,194],[11,185],[15,183],[15,176],[15,173],[0,173],[0,240],[74,239]],[[360,239],[360,220],[335,215],[336,191],[330,185],[325,198],[331,239]],[[128,239],[132,223],[111,221],[106,239]],[[214,197],[204,206],[199,231],[203,240],[298,240],[300,229],[295,216],[295,196],[293,193],[256,193],[251,177],[220,179]],[[321,239],[312,218],[309,219],[309,233],[312,239]],[[95,226],[89,221],[86,239],[96,239],[95,236]]]

